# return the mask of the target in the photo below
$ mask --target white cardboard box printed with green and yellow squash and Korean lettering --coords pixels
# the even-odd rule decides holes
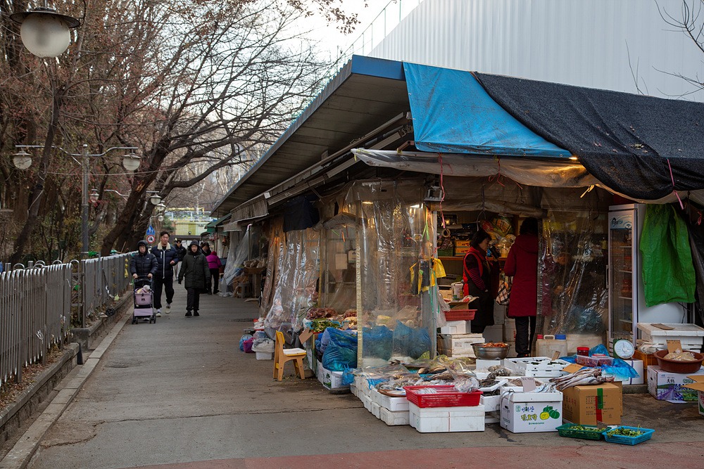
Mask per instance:
[[[560,425],[562,392],[501,394],[501,428],[513,433],[556,432]]]

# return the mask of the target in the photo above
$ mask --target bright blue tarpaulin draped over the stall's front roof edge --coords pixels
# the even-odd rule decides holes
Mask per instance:
[[[414,63],[403,68],[418,150],[570,157],[503,110],[470,72]]]

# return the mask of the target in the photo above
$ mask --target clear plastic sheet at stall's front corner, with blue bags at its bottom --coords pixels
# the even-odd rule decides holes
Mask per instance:
[[[422,191],[418,181],[358,181],[345,200],[358,214],[359,366],[434,348],[434,232]]]

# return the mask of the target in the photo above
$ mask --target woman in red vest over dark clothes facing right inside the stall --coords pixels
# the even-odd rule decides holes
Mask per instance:
[[[470,250],[463,260],[464,293],[478,297],[469,307],[477,309],[472,319],[472,333],[482,334],[486,326],[494,326],[494,295],[491,294],[491,269],[494,262],[486,259],[491,236],[486,231],[477,231],[470,241]],[[491,264],[494,264],[493,266]]]

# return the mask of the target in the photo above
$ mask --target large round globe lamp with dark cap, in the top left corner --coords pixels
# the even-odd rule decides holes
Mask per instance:
[[[58,57],[68,49],[71,32],[80,21],[56,13],[46,6],[13,13],[10,19],[20,25],[20,38],[28,51],[37,57]]]

